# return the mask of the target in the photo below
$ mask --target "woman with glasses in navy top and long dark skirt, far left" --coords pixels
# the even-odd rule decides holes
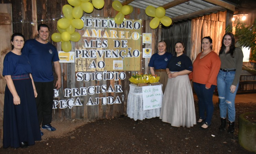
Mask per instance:
[[[12,51],[3,61],[6,80],[3,109],[3,147],[25,148],[41,140],[36,112],[37,92],[28,58],[21,54],[24,36],[14,33]]]

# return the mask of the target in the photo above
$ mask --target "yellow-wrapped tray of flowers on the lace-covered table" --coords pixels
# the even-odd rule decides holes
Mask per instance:
[[[133,84],[137,85],[137,84],[141,84],[141,83],[155,83],[155,82],[158,82],[160,79],[159,76],[152,76],[151,74],[150,75],[147,75],[147,74],[136,74],[133,76],[131,76],[131,78],[129,79],[130,82],[132,82]]]

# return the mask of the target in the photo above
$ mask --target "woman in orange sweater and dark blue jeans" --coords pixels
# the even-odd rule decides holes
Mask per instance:
[[[199,120],[204,124],[202,129],[211,125],[213,115],[213,92],[217,85],[217,75],[220,70],[221,61],[212,50],[212,39],[207,36],[201,41],[202,52],[200,52],[193,63],[193,87],[198,97]],[[206,112],[206,116],[205,116]]]

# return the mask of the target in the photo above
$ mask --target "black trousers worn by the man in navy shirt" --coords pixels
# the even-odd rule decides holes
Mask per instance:
[[[48,125],[52,122],[53,113],[53,81],[35,82],[37,91],[36,107],[39,125]],[[39,126],[40,127],[40,126]]]

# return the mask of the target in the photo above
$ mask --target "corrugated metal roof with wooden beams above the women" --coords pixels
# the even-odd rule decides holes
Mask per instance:
[[[145,10],[146,7],[164,7],[166,16],[172,21],[186,20],[205,14],[224,11],[234,11],[235,5],[222,0],[119,0],[122,4],[129,4],[133,7]]]

